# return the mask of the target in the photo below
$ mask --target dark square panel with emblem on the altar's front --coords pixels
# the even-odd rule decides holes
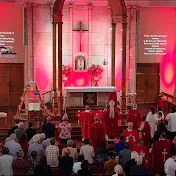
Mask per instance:
[[[84,92],[83,93],[83,104],[89,106],[97,105],[97,93],[96,92]]]

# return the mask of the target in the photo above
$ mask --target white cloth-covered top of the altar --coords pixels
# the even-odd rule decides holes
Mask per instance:
[[[116,92],[113,86],[65,87],[66,93],[78,92]]]

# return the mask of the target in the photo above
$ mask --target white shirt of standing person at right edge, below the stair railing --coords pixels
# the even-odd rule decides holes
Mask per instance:
[[[168,121],[167,129],[170,132],[176,132],[176,112],[169,113],[166,116],[166,120]]]

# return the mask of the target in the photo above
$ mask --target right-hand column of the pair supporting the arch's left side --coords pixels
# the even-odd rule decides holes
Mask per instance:
[[[58,22],[58,90],[60,91],[60,113],[63,112],[62,92],[62,18]]]

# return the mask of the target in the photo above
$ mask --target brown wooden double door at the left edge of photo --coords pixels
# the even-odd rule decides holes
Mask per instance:
[[[0,64],[0,106],[18,106],[24,89],[24,64]]]

